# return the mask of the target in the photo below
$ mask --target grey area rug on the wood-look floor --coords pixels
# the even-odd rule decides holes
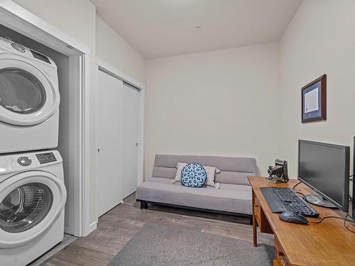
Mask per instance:
[[[147,223],[116,257],[111,266],[229,266],[273,265],[275,248],[201,233],[183,228]]]

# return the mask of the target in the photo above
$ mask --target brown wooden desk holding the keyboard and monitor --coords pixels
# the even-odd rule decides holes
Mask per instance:
[[[248,177],[253,188],[253,245],[257,245],[256,226],[261,232],[275,235],[274,266],[285,265],[355,265],[355,233],[344,228],[344,221],[337,218],[328,218],[322,223],[309,223],[301,225],[287,223],[280,220],[280,214],[274,214],[269,208],[261,187],[293,187],[297,179],[290,182],[271,183],[265,177]],[[296,187],[303,194],[315,193],[304,184]],[[342,211],[313,206],[320,213],[320,217],[344,217]],[[319,218],[307,218],[308,221],[317,221]],[[349,225],[349,223],[347,223]],[[355,231],[355,226],[349,225]]]

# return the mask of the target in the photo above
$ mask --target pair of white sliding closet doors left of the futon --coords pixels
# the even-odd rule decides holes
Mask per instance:
[[[141,89],[103,67],[98,71],[98,216],[136,191],[140,180]]]

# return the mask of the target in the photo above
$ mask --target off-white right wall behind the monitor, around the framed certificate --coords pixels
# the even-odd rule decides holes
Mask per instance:
[[[280,157],[289,160],[291,176],[297,177],[298,139],[353,145],[354,14],[354,0],[305,0],[280,42]],[[322,74],[327,121],[302,124],[301,87]]]

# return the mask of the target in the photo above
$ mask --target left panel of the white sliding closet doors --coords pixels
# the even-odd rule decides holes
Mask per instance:
[[[97,210],[106,213],[122,197],[123,82],[99,71],[97,88]]]

